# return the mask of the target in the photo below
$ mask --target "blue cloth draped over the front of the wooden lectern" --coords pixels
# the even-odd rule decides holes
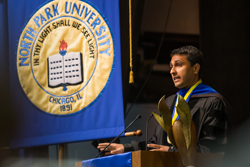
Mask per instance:
[[[118,155],[111,155],[96,159],[82,161],[82,167],[131,167],[132,153],[127,152]]]

